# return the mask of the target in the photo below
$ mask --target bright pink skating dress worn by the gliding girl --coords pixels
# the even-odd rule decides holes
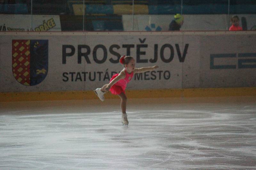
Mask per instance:
[[[116,82],[114,85],[112,85],[112,87],[109,89],[109,91],[112,94],[118,95],[121,94],[122,92],[125,94],[125,88],[127,83],[132,79],[133,77],[133,71],[131,72],[131,74],[129,74],[126,70],[125,71],[125,78],[119,80],[118,82]],[[116,76],[118,76],[118,73],[113,75],[112,78],[110,79],[110,82],[116,78]]]

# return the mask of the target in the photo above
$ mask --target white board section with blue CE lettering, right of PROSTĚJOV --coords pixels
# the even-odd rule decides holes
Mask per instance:
[[[256,35],[213,35],[201,39],[200,87],[255,87],[256,86]],[[210,55],[214,66],[224,67],[210,69]],[[233,57],[232,57],[233,56]],[[243,61],[244,60],[244,61]],[[247,60],[247,61],[245,61]],[[242,68],[239,62],[242,62]],[[233,66],[234,68],[228,68]],[[254,68],[248,68],[248,67]]]

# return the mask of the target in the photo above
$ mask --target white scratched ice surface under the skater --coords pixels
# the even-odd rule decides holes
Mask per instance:
[[[256,169],[256,97],[0,103],[0,169]]]

